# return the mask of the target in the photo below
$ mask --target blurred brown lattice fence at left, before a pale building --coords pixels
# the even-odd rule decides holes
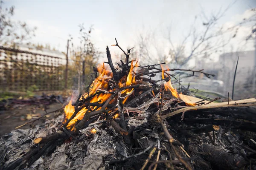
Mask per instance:
[[[0,46],[0,90],[65,88],[67,59]]]

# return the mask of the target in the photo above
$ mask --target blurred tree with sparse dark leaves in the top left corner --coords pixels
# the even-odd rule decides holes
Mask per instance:
[[[25,22],[12,20],[14,11],[15,6],[4,8],[0,1],[0,45],[13,45],[35,36],[36,27],[29,28]]]

